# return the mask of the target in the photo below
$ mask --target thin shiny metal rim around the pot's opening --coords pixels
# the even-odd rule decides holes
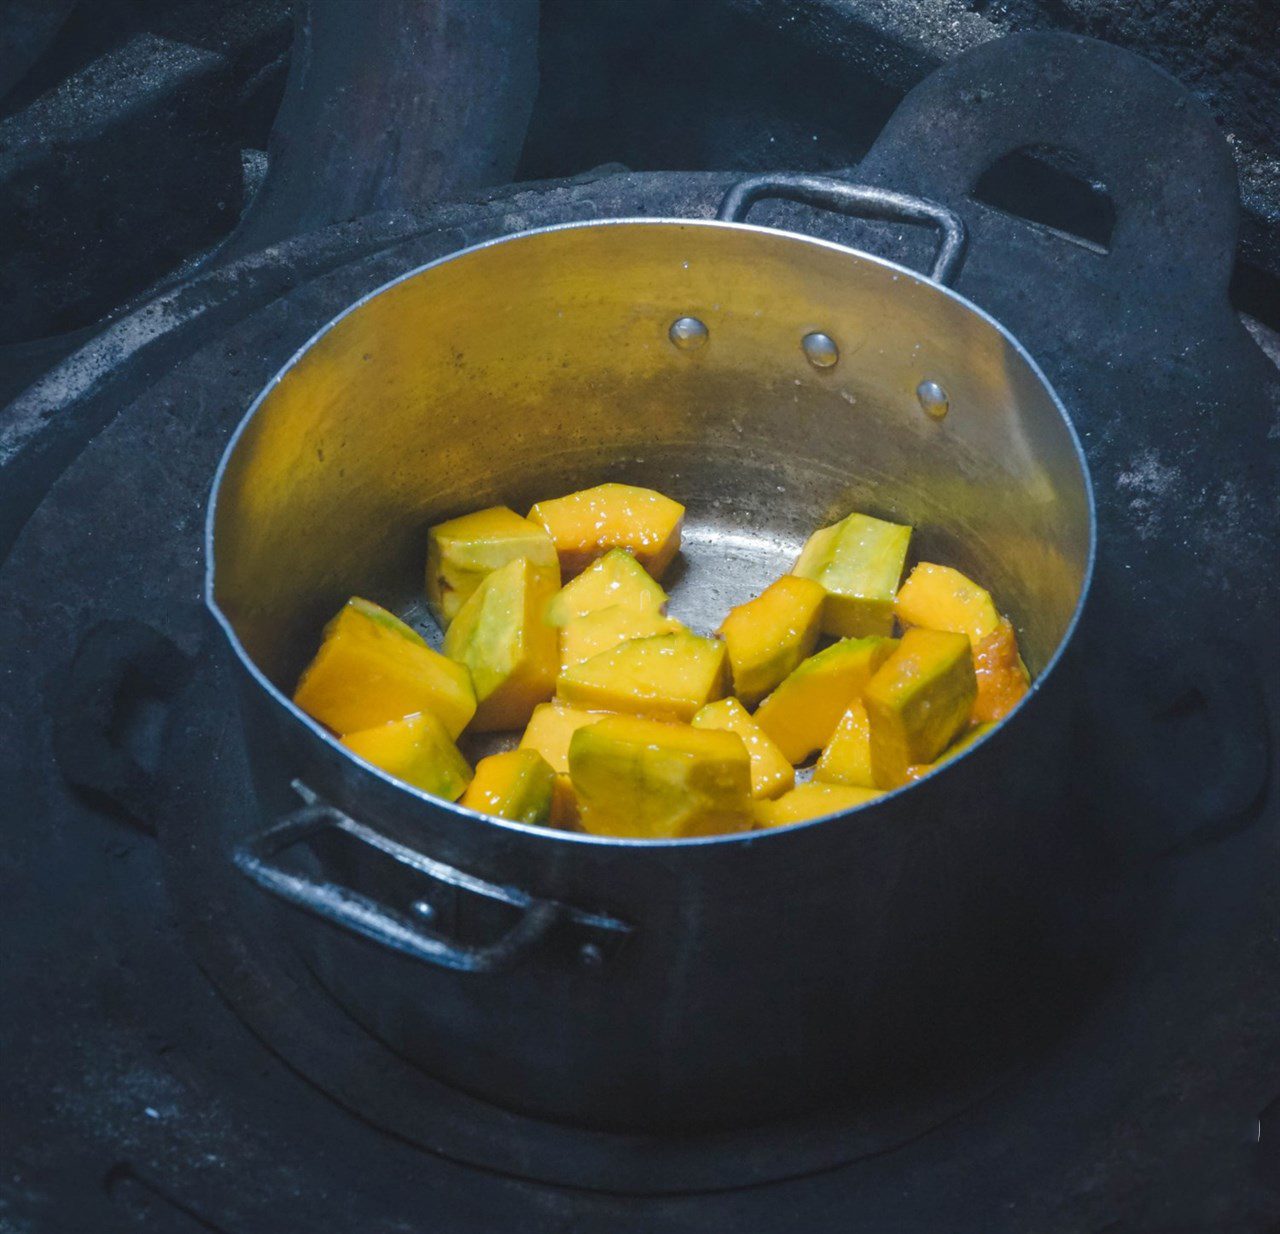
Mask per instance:
[[[667,849],[678,847],[685,849],[692,845],[696,846],[709,846],[721,844],[763,844],[772,842],[771,837],[777,838],[777,842],[783,842],[781,837],[792,835],[800,831],[809,831],[813,827],[819,827],[826,823],[832,822],[837,818],[849,818],[852,814],[860,814],[867,810],[879,810],[882,806],[896,801],[904,792],[910,792],[916,787],[915,782],[902,785],[900,789],[893,789],[886,792],[883,796],[877,797],[873,801],[868,801],[865,805],[855,806],[851,810],[840,810],[833,814],[823,814],[818,818],[805,819],[800,823],[790,823],[785,827],[768,827],[763,831],[741,831],[730,832],[727,835],[716,836],[694,836],[689,838],[680,840],[639,840],[623,836],[594,836],[586,832],[575,831],[559,831],[552,827],[540,827],[534,823],[521,823],[512,819],[494,818],[490,814],[480,814],[476,810],[467,809],[456,801],[447,801],[443,797],[433,796],[429,792],[424,792],[421,789],[415,789],[412,785],[404,783],[396,776],[384,772],[381,768],[375,767],[372,763],[367,763],[365,759],[353,754],[346,746],[342,745],[338,739],[329,732],[319,721],[312,719],[306,714],[297,704],[288,698],[276,685],[270,681],[266,675],[257,667],[257,664],[251,659],[248,653],[244,650],[244,645],[241,643],[239,635],[236,632],[234,626],[230,620],[221,611],[218,604],[215,595],[215,581],[216,581],[216,563],[214,553],[214,527],[218,518],[218,498],[223,485],[223,477],[225,475],[227,467],[230,462],[232,454],[236,453],[236,448],[239,445],[241,437],[248,429],[253,417],[257,415],[259,408],[269,394],[280,384],[285,375],[293,369],[293,366],[308,352],[311,348],[320,342],[330,330],[335,329],[342,321],[344,321],[356,310],[362,308],[369,301],[374,300],[376,296],[381,296],[383,292],[390,291],[393,287],[407,282],[408,279],[416,278],[420,274],[425,274],[428,270],[433,270],[436,266],[445,265],[447,262],[456,261],[460,257],[467,257],[471,253],[479,252],[484,248],[494,248],[499,244],[512,243],[513,241],[530,239],[535,236],[543,236],[552,232],[568,232],[568,230],[582,230],[586,228],[600,228],[600,227],[676,227],[676,228],[708,228],[708,229],[730,229],[736,232],[750,232],[754,234],[768,236],[768,237],[782,237],[787,241],[799,242],[803,244],[809,244],[817,248],[826,248],[832,252],[841,253],[847,257],[856,257],[861,261],[869,261],[873,265],[883,266],[887,270],[892,270],[900,279],[910,279],[914,283],[924,284],[931,291],[938,294],[946,296],[954,300],[961,308],[966,308],[969,312],[974,314],[987,325],[992,326],[998,334],[1001,334],[1005,341],[1014,348],[1018,356],[1024,364],[1030,369],[1032,374],[1042,383],[1047,390],[1050,398],[1057,413],[1062,419],[1062,424],[1066,428],[1068,437],[1071,443],[1071,448],[1075,452],[1076,466],[1080,470],[1080,476],[1084,481],[1084,498],[1085,498],[1085,511],[1088,513],[1089,524],[1089,538],[1088,549],[1084,561],[1084,575],[1080,584],[1080,595],[1075,603],[1075,611],[1071,613],[1071,618],[1066,625],[1066,630],[1059,641],[1057,648],[1050,657],[1048,663],[1044,666],[1043,671],[1036,676],[1032,681],[1030,689],[1023,696],[1021,700],[1015,705],[1012,712],[1005,717],[998,725],[995,726],[989,732],[984,733],[977,741],[969,742],[969,745],[961,750],[959,754],[947,759],[945,767],[938,768],[933,774],[946,774],[952,765],[961,763],[964,759],[969,758],[974,750],[986,745],[1002,727],[1005,723],[1014,721],[1014,718],[1029,705],[1037,695],[1046,681],[1048,681],[1053,669],[1057,667],[1075,636],[1075,631],[1079,627],[1082,614],[1084,612],[1084,605],[1088,602],[1089,591],[1093,585],[1093,572],[1097,561],[1097,540],[1098,540],[1098,518],[1097,518],[1097,504],[1093,493],[1093,476],[1089,471],[1089,463],[1085,458],[1084,449],[1080,445],[1079,434],[1075,431],[1075,425],[1068,413],[1062,399],[1059,397],[1057,390],[1053,388],[1052,383],[1044,376],[1039,365],[1027,351],[1025,347],[1014,337],[1014,334],[1000,321],[997,321],[989,312],[975,305],[973,301],[965,298],[959,292],[947,287],[943,283],[936,283],[933,279],[918,270],[913,270],[909,266],[904,266],[896,261],[891,261],[886,257],[878,257],[874,253],[864,252],[860,248],[854,248],[850,244],[841,244],[836,241],[822,239],[814,236],[805,236],[803,232],[791,232],[785,228],[776,227],[762,227],[754,223],[728,223],[719,219],[681,219],[681,218],[621,218],[621,219],[581,219],[570,223],[557,223],[550,227],[538,227],[529,228],[524,232],[513,232],[509,236],[497,236],[492,239],[481,241],[479,244],[470,244],[466,248],[458,248],[454,252],[445,253],[443,257],[436,257],[434,261],[424,262],[420,266],[413,266],[411,270],[406,270],[403,274],[398,274],[393,279],[388,279],[372,291],[366,292],[358,300],[353,301],[346,308],[342,310],[337,316],[326,321],[320,329],[317,329],[292,356],[276,370],[271,379],[262,387],[257,397],[250,405],[248,410],[244,412],[241,421],[236,425],[227,447],[223,451],[221,458],[218,462],[218,467],[214,471],[212,485],[209,494],[209,508],[205,513],[205,588],[204,588],[204,600],[205,607],[209,609],[214,621],[221,629],[223,635],[230,644],[232,650],[236,653],[236,658],[239,661],[241,666],[248,672],[253,682],[266,691],[268,696],[280,707],[285,717],[294,723],[302,725],[305,728],[310,730],[311,735],[329,746],[330,750],[338,753],[340,757],[349,759],[360,769],[367,774],[372,774],[383,780],[392,789],[406,794],[407,796],[415,799],[422,805],[447,810],[454,813],[462,818],[468,819],[472,823],[484,824],[489,827],[497,827],[504,831],[518,832],[527,836],[534,836],[544,841],[559,841],[567,844],[585,844],[585,845],[604,845],[608,847],[622,847],[622,849]],[[932,778],[928,777],[928,778]]]

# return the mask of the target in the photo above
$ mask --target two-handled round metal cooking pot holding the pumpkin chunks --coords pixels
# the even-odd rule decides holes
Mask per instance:
[[[933,274],[740,221],[764,196],[932,224]],[[1052,979],[1071,677],[1055,666],[1088,590],[1092,494],[1036,364],[945,285],[963,247],[929,202],[756,178],[718,221],[548,228],[410,271],[250,410],[207,533],[264,812],[234,859],[401,1055],[553,1119],[727,1125],[919,1082],[992,1039],[1012,987]],[[861,509],[993,590],[1036,685],[874,805],[675,842],[448,805],[289,701],[348,595],[424,626],[430,524],[603,480],[687,506],[668,582],[703,632]]]

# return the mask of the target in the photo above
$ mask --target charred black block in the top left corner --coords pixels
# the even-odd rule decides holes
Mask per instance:
[[[27,68],[0,119],[5,370],[22,365],[20,344],[93,325],[221,239],[241,216],[241,150],[266,134],[246,83],[265,73],[268,124],[279,97],[268,69],[287,46],[279,4],[229,10],[212,31],[65,8],[54,63]],[[64,76],[50,79],[55,64]],[[38,348],[31,358],[33,376]]]

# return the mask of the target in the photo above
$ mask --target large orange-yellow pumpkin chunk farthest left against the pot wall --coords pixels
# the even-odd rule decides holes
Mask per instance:
[[[324,629],[293,701],[334,732],[430,712],[451,737],[476,709],[471,676],[385,608],[352,597]]]

